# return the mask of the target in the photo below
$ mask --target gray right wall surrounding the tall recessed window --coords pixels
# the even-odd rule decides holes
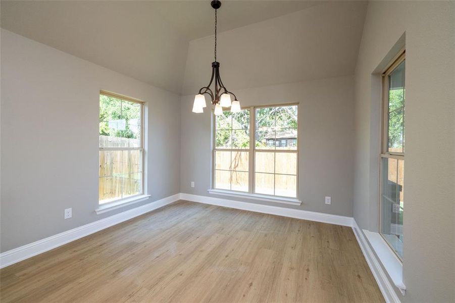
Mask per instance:
[[[370,2],[359,51],[353,213],[377,230],[377,73],[406,33],[404,302],[455,301],[454,29],[455,2]]]

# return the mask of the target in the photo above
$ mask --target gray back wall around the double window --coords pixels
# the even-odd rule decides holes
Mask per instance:
[[[201,81],[204,83],[202,79]],[[298,198],[302,204],[289,206],[255,200],[250,202],[352,216],[352,77],[229,89],[235,92],[242,106],[299,103]],[[180,191],[211,195],[207,190],[211,186],[213,106],[208,106],[203,114],[194,114],[191,112],[193,99],[194,95],[181,98]],[[195,182],[194,188],[190,186],[191,181]],[[324,203],[324,196],[332,197],[332,205]],[[229,199],[235,198],[230,196]]]

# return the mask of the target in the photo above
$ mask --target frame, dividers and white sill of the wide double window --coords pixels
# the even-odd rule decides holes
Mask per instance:
[[[208,189],[210,193],[216,193],[216,194],[223,194],[223,195],[231,195],[231,196],[243,196],[245,198],[249,199],[256,199],[256,200],[262,200],[262,201],[271,201],[275,203],[284,203],[284,204],[291,204],[291,205],[301,205],[301,201],[298,199],[298,176],[299,176],[299,164],[298,164],[298,143],[297,143],[297,148],[296,149],[256,149],[255,146],[255,110],[258,108],[268,108],[268,107],[281,107],[281,106],[297,106],[299,107],[299,103],[283,103],[283,104],[271,104],[271,105],[261,105],[261,106],[248,106],[248,107],[242,107],[242,110],[249,110],[249,132],[250,132],[250,144],[248,149],[242,149],[242,148],[216,148],[215,146],[215,136],[216,136],[216,116],[212,110],[212,176],[211,176],[211,189]],[[298,112],[297,112],[298,113]],[[298,125],[300,124],[299,122],[299,116],[297,114],[297,132],[298,132]],[[298,135],[297,135],[298,136]],[[243,191],[235,191],[235,190],[229,190],[229,189],[218,189],[214,188],[215,186],[215,153],[216,151],[247,151],[248,152],[248,192],[243,192]],[[268,194],[260,194],[260,193],[255,193],[255,153],[256,151],[263,151],[263,152],[273,152],[273,153],[295,153],[297,157],[297,164],[296,164],[296,184],[295,184],[295,190],[296,190],[296,196],[294,197],[283,197],[283,196],[277,196],[277,195],[268,195]],[[275,175],[275,173],[274,173]]]

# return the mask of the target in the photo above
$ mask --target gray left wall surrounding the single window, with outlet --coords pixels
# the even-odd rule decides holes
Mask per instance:
[[[178,95],[1,35],[1,251],[179,192]],[[146,101],[151,198],[96,215],[100,89]],[[70,207],[73,218],[64,220]]]

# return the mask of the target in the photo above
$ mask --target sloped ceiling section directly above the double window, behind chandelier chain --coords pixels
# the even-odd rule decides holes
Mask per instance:
[[[223,84],[232,91],[352,75],[366,8],[358,1],[322,3],[220,33]],[[183,94],[208,84],[213,45],[213,36],[190,41]]]

